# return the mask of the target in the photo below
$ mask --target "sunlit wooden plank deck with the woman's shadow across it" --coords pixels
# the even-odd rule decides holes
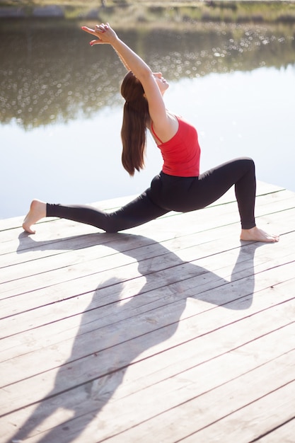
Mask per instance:
[[[294,442],[295,194],[256,216],[279,243],[232,191],[122,234],[1,220],[1,443]]]

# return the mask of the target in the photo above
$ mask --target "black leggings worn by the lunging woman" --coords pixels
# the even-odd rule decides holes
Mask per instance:
[[[47,217],[60,217],[91,224],[106,232],[123,231],[156,219],[169,211],[189,212],[202,209],[235,185],[238,211],[243,229],[255,226],[255,165],[252,159],[228,161],[198,177],[175,177],[161,172],[151,187],[115,212],[90,206],[51,205]]]

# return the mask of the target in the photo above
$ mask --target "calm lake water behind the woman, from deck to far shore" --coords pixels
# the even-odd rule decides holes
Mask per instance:
[[[33,197],[88,203],[147,188],[161,155],[149,136],[145,170],[130,178],[122,168],[124,69],[111,48],[88,47],[74,28],[74,37],[57,37],[65,45],[58,50],[32,28],[13,50],[24,32],[5,34],[0,50],[0,218],[25,214]],[[161,67],[167,107],[197,127],[201,171],[251,156],[258,180],[295,192],[294,36],[291,29],[237,32],[179,34],[177,47],[168,31],[160,48],[149,35],[126,40],[154,71]]]

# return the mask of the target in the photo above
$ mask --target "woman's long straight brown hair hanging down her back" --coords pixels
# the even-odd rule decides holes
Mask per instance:
[[[144,97],[144,88],[132,71],[122,81],[121,94],[126,100],[121,130],[122,164],[130,176],[134,176],[135,169],[144,168],[149,105]]]

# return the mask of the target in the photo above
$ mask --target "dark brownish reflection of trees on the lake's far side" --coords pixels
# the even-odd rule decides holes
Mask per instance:
[[[139,29],[120,35],[170,81],[294,62],[289,28],[204,25],[181,33]],[[0,22],[0,37],[1,122],[37,127],[120,103],[125,69],[110,48],[88,46],[78,25],[21,22],[7,28]]]

